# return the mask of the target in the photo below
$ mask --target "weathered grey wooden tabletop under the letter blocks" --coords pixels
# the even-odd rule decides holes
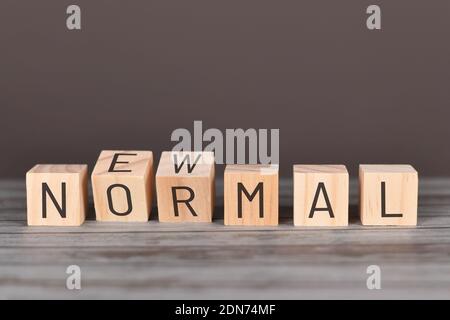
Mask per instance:
[[[24,180],[0,181],[0,298],[450,298],[450,179],[420,180],[417,227],[363,227],[357,181],[350,225],[295,228],[292,182],[280,181],[278,227],[212,224],[27,227]],[[366,286],[381,268],[381,290]],[[81,268],[81,290],[66,268]]]

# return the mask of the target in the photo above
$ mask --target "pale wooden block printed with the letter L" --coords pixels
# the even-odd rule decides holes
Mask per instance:
[[[419,181],[410,165],[360,165],[363,225],[415,226]]]

